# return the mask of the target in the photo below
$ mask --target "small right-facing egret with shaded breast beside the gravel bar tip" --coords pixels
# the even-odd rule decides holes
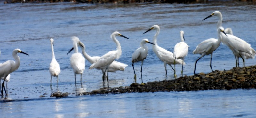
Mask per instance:
[[[148,46],[146,45],[146,43],[150,43],[150,44],[153,44],[154,43],[151,43],[148,41],[148,39],[142,39],[142,41],[140,42],[140,45],[141,47],[136,49],[133,54],[132,54],[132,68],[133,68],[133,71],[134,71],[134,80],[135,80],[135,83],[137,83],[137,77],[136,77],[136,73],[135,73],[135,70],[134,70],[134,66],[133,64],[135,62],[139,62],[141,61],[141,69],[140,69],[140,75],[141,75],[141,84],[144,84],[143,83],[143,80],[142,80],[142,65],[143,65],[143,61],[144,59],[147,58],[147,55],[148,55]],[[134,81],[133,80],[133,81]]]

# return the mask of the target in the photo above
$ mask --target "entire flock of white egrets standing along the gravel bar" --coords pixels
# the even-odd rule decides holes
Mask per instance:
[[[211,54],[211,60],[210,60],[210,67],[212,69],[212,54],[213,52],[220,46],[220,43],[224,43],[227,45],[230,50],[233,52],[235,58],[236,58],[236,67],[239,67],[239,58],[243,59],[254,59],[256,52],[255,50],[251,47],[250,44],[245,42],[244,40],[236,37],[233,35],[233,32],[231,28],[227,28],[224,30],[224,28],[221,26],[222,25],[222,15],[219,11],[213,12],[210,16],[206,17],[210,18],[212,16],[217,16],[219,18],[217,22],[217,33],[218,33],[218,38],[210,38],[207,40],[204,40],[203,42],[199,43],[196,49],[193,51],[193,54],[200,54],[201,56],[199,59],[204,57],[205,55]],[[204,19],[204,20],[205,20]],[[137,77],[136,73],[134,70],[134,63],[135,62],[140,62],[141,61],[141,69],[140,69],[140,75],[141,75],[141,84],[143,83],[142,80],[142,65],[144,59],[146,59],[148,55],[148,47],[146,46],[146,43],[150,43],[153,45],[153,51],[156,54],[156,56],[163,61],[164,67],[165,67],[165,73],[167,75],[167,69],[166,65],[168,64],[170,67],[174,65],[174,68],[172,67],[174,71],[174,77],[176,77],[176,70],[175,70],[175,65],[176,64],[181,64],[182,65],[182,70],[181,74],[183,76],[183,65],[185,65],[184,59],[188,54],[188,45],[184,42],[184,31],[180,31],[180,38],[181,42],[177,43],[174,46],[174,52],[170,52],[165,50],[164,48],[160,47],[157,45],[157,36],[159,35],[160,32],[160,27],[158,25],[152,26],[150,29],[148,29],[146,32],[143,34],[147,33],[148,31],[151,30],[156,30],[156,34],[153,37],[153,42],[149,42],[148,39],[143,39],[140,43],[141,47],[138,48],[137,50],[134,51],[132,54],[132,67],[134,71],[134,81],[137,82]],[[79,38],[77,37],[72,37],[73,40],[73,48],[68,52],[70,53],[72,50],[74,50],[74,53],[70,57],[70,65],[74,71],[74,76],[75,76],[75,83],[76,83],[76,74],[80,74],[80,81],[82,83],[82,74],[85,70],[85,59],[88,60],[92,65],[89,67],[89,69],[99,69],[102,70],[102,80],[103,80],[103,85],[105,84],[104,80],[107,79],[108,82],[108,72],[115,72],[117,70],[124,71],[125,67],[127,67],[127,64],[115,61],[115,59],[119,59],[122,50],[121,50],[121,45],[119,41],[116,39],[116,36],[124,37],[126,39],[129,39],[125,37],[124,35],[121,35],[119,32],[113,32],[111,34],[111,38],[116,43],[116,50],[109,51],[108,53],[104,54],[103,56],[94,56],[91,57],[85,52],[85,45],[82,43]],[[49,72],[51,74],[51,86],[52,86],[52,76],[57,77],[57,87],[58,87],[58,75],[60,74],[60,65],[55,59],[54,55],[54,49],[53,49],[53,39],[50,39],[51,42],[51,47],[52,47],[52,61],[50,63],[49,67]],[[78,46],[81,47],[82,49],[82,54],[78,52]],[[4,82],[9,82],[10,81],[10,74],[17,70],[20,65],[20,57],[17,55],[18,53],[23,53],[28,55],[25,52],[22,52],[20,49],[15,49],[12,53],[13,60],[8,60],[5,61],[4,63],[0,64],[0,80],[4,80]],[[67,53],[67,54],[68,54]],[[0,51],[1,54],[1,51]],[[85,57],[85,58],[84,58]],[[196,74],[196,63],[199,60],[197,59],[195,62],[195,70],[194,74]],[[212,70],[213,71],[213,70]],[[5,91],[5,94],[7,95],[7,92],[5,90],[4,82],[2,83],[1,88],[1,95],[3,95],[3,90]],[[1,82],[0,82],[1,83]],[[6,83],[7,86],[7,83]],[[7,88],[7,87],[6,87]]]

